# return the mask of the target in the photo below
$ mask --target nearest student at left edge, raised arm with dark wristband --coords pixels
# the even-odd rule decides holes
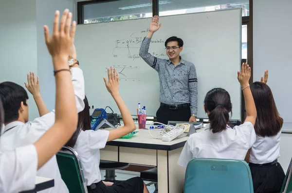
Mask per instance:
[[[44,26],[47,48],[52,55],[56,82],[55,124],[34,145],[17,147],[10,152],[0,152],[0,192],[12,193],[32,190],[35,187],[37,169],[49,161],[76,130],[77,110],[67,58],[73,45],[76,22],[66,9],[59,26],[59,12],[55,12],[53,36]],[[64,114],[66,116],[64,116]],[[4,112],[0,100],[0,125]]]

